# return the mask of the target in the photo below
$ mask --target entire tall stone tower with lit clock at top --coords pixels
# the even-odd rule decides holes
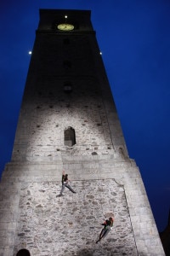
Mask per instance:
[[[65,188],[57,196],[63,169],[77,194]],[[0,189],[0,255],[164,255],[88,10],[40,10]],[[96,244],[113,215],[113,229]]]

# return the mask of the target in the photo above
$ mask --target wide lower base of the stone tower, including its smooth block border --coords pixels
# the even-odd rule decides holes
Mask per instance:
[[[77,194],[65,189],[60,198],[63,168]],[[110,214],[114,228],[96,245]],[[0,183],[0,230],[0,256],[15,256],[20,247],[31,256],[165,255],[139,170],[121,154],[10,162]]]

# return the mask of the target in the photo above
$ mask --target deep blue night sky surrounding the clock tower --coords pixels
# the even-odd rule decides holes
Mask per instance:
[[[170,1],[1,0],[0,176],[10,161],[39,9],[91,9],[129,156],[158,230],[170,207]]]

